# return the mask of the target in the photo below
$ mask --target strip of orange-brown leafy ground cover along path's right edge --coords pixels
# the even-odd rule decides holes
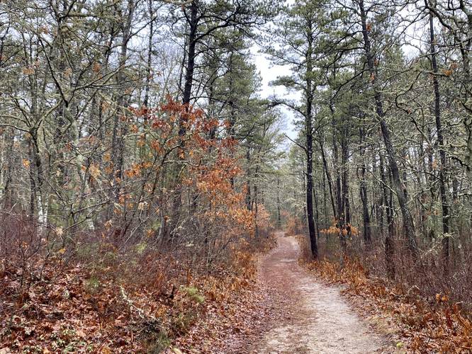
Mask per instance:
[[[299,236],[302,249],[307,240]],[[445,294],[425,297],[417,287],[406,289],[382,278],[373,278],[360,261],[344,257],[343,263],[313,261],[303,251],[300,263],[327,282],[344,285],[356,308],[372,319],[381,319],[400,350],[415,353],[471,353],[471,313],[464,304]]]

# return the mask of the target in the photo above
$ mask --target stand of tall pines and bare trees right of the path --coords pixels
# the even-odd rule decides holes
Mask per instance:
[[[277,207],[313,256],[470,301],[470,6],[300,1],[275,22],[274,84],[303,97],[278,100],[301,119]]]

